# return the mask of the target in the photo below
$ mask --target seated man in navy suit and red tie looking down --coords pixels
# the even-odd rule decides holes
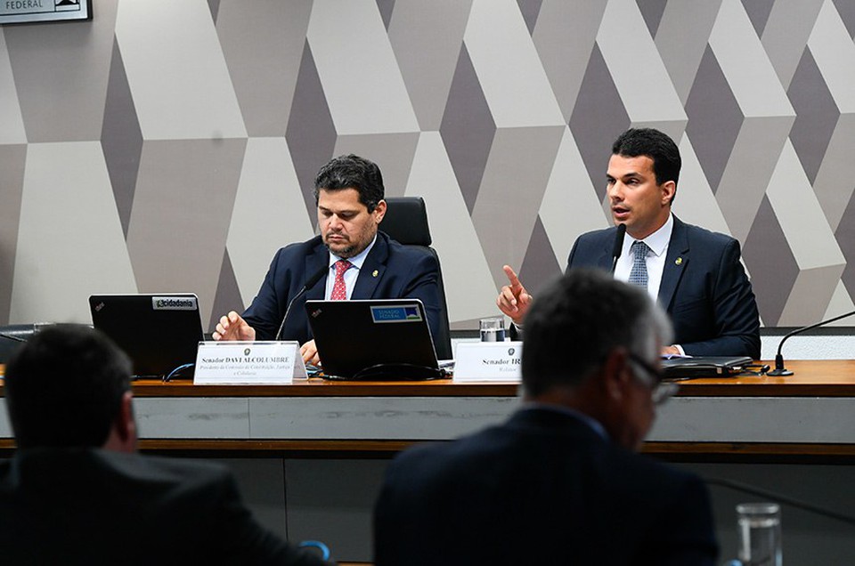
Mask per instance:
[[[242,317],[235,311],[220,319],[215,340],[297,340],[306,363],[318,362],[305,300],[297,301],[281,328],[291,300],[305,291],[306,299],[420,299],[432,336],[439,333],[439,268],[425,250],[405,247],[378,232],[386,214],[380,169],[354,155],[334,158],[314,180],[321,235],[283,247],[273,258],[258,295]],[[337,263],[351,265],[337,289]],[[329,276],[329,277],[328,277]],[[338,295],[340,293],[340,295]]]

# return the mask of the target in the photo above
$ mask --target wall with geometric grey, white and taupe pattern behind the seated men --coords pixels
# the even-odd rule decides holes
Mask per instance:
[[[744,247],[767,326],[855,298],[851,0],[94,0],[0,28],[0,323],[92,293],[249,303],[360,153],[422,195],[453,327],[607,226],[610,144],[680,145],[675,212]],[[845,321],[844,321],[845,322]]]

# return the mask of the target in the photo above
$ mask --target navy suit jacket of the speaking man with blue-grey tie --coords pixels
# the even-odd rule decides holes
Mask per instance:
[[[611,269],[616,228],[576,239],[567,270]],[[659,304],[674,325],[674,344],[693,356],[760,358],[760,315],[739,263],[739,242],[681,222],[674,229],[659,287]]]

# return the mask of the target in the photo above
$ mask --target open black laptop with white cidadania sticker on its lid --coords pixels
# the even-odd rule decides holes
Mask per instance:
[[[196,295],[92,295],[89,310],[93,326],[134,361],[134,376],[172,376],[196,361],[203,340]],[[192,369],[174,376],[191,377]]]

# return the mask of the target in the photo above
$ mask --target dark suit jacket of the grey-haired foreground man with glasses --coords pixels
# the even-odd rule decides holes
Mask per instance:
[[[374,511],[377,566],[693,566],[718,552],[698,478],[550,408],[403,452]]]

